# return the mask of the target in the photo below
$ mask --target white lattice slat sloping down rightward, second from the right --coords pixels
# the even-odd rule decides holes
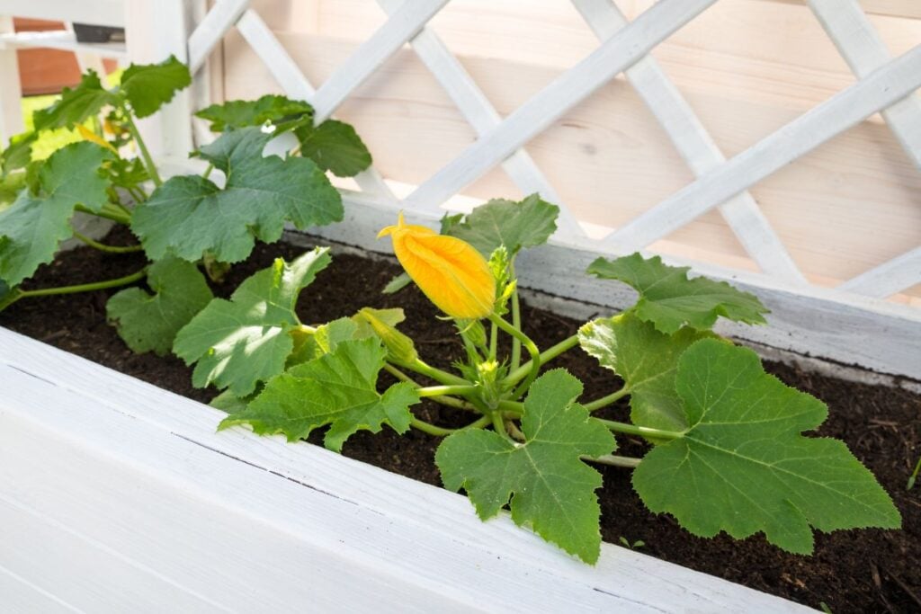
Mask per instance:
[[[573,4],[601,41],[611,38],[627,25],[626,17],[612,0],[573,0]],[[726,161],[726,156],[706,132],[704,124],[651,55],[628,68],[625,75],[695,177]],[[732,197],[719,205],[719,211],[763,272],[787,282],[806,283],[806,278],[799,272],[796,262],[752,194],[742,192]]]

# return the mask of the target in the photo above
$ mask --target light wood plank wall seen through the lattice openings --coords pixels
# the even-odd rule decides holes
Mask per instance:
[[[650,0],[621,0],[633,18]],[[921,43],[919,0],[866,0],[894,55]],[[374,0],[253,3],[305,75],[320,84],[384,20]],[[565,0],[453,0],[430,24],[502,115],[593,51],[597,40]],[[238,34],[224,42],[223,91],[279,91]],[[653,53],[727,156],[855,82],[797,0],[722,0]],[[917,94],[915,94],[917,95]],[[418,184],[475,138],[435,79],[404,49],[337,113],[353,122],[389,180]],[[590,224],[617,227],[693,180],[667,135],[618,79],[527,147],[565,203]],[[476,198],[518,196],[496,169]],[[879,115],[752,188],[810,281],[835,285],[921,244],[921,172]],[[756,271],[716,212],[653,249]],[[899,301],[921,305],[921,285]]]

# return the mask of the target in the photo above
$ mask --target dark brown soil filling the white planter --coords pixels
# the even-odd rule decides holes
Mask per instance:
[[[126,237],[113,236],[115,243]],[[216,293],[227,295],[251,272],[282,256],[295,257],[303,249],[287,244],[259,246],[251,259],[234,267],[227,283]],[[32,287],[79,284],[119,277],[143,266],[137,255],[110,256],[92,249],[77,249],[60,261],[41,268]],[[407,321],[402,330],[415,340],[426,361],[449,366],[461,356],[461,347],[449,323],[414,288],[396,296],[380,289],[400,272],[390,261],[371,261],[337,255],[332,266],[301,296],[298,314],[304,322],[325,322],[350,315],[359,307],[403,307]],[[109,292],[52,296],[23,300],[0,313],[0,326],[17,330],[42,342],[153,382],[192,399],[207,402],[213,390],[192,388],[191,369],[180,360],[131,353],[106,324]],[[549,346],[572,334],[579,322],[553,313],[524,307],[526,330],[539,345]],[[566,353],[554,362],[577,374],[586,384],[586,397],[611,391],[611,375],[585,353]],[[762,537],[735,541],[725,535],[698,539],[678,527],[670,516],[651,514],[630,485],[627,469],[601,468],[601,531],[604,539],[619,543],[642,540],[641,551],[695,570],[726,578],[758,590],[787,597],[834,612],[921,611],[921,484],[906,491],[915,461],[921,455],[921,397],[898,388],[845,382],[768,363],[767,370],[788,385],[825,401],[828,421],[819,434],[844,439],[847,446],[877,476],[902,512],[902,530],[838,531],[816,536],[811,557],[787,554]],[[420,417],[446,426],[459,425],[461,416],[435,404],[417,406]],[[625,406],[610,415],[624,419]],[[312,437],[317,443],[319,437]],[[345,445],[344,454],[359,458],[416,480],[439,485],[434,464],[439,440],[419,432],[397,436],[390,430],[372,435],[359,433]],[[621,452],[642,454],[644,444],[622,438]]]

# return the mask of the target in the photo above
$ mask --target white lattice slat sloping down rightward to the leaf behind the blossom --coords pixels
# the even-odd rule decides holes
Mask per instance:
[[[388,14],[392,14],[400,6],[400,1],[378,0],[378,4]],[[501,116],[485,97],[483,90],[477,87],[471,75],[467,73],[444,42],[438,38],[434,30],[423,28],[415,35],[411,44],[419,59],[454,101],[461,115],[467,122],[470,122],[473,131],[478,136],[483,137],[502,122]],[[519,149],[502,163],[502,168],[505,168],[508,176],[523,193],[539,192],[544,200],[560,205],[559,232],[572,237],[580,237],[584,234],[576,218],[565,206],[563,199],[544,177],[528,152]]]

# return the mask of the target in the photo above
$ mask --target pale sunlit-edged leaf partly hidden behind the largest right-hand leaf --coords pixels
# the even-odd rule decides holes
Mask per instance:
[[[630,421],[664,431],[688,427],[675,390],[675,371],[682,353],[707,336],[688,328],[667,335],[629,312],[596,319],[578,331],[582,349],[624,378],[630,389]]]

